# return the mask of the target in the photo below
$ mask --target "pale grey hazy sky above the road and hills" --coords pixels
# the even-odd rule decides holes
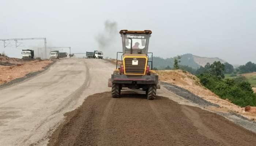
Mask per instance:
[[[0,39],[46,37],[48,46],[71,46],[73,53],[103,50],[114,57],[121,51],[118,33],[106,48],[95,39],[109,20],[117,30],[152,30],[149,49],[155,56],[192,53],[231,64],[256,62],[255,0],[0,0],[0,6]],[[4,51],[20,56],[11,47]]]

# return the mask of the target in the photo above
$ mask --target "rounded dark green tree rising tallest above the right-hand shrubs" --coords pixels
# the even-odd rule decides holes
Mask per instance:
[[[224,76],[225,65],[220,61],[214,61],[213,64],[210,65],[210,73],[217,78],[225,78]]]

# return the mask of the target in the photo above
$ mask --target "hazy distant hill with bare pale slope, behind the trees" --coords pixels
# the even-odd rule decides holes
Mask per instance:
[[[199,68],[200,66],[204,66],[209,62],[212,64],[214,61],[220,61],[222,63],[225,63],[223,59],[220,59],[218,57],[209,58],[209,57],[200,57],[193,54],[184,54],[181,55],[180,64],[184,66],[190,66],[194,69]],[[174,64],[174,58],[166,58],[163,59],[161,57],[153,57],[153,66],[158,69],[165,69],[166,66],[173,67]]]

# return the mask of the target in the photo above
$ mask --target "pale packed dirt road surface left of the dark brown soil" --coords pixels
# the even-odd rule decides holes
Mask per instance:
[[[49,129],[84,97],[110,91],[106,78],[114,67],[100,59],[60,59],[39,76],[1,89],[0,145],[44,142]]]

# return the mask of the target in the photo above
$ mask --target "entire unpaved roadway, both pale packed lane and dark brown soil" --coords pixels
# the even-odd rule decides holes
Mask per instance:
[[[255,122],[211,112],[220,107],[168,83],[156,100],[126,88],[112,98],[108,78],[115,67],[105,59],[59,59],[1,88],[0,144],[255,145]]]

